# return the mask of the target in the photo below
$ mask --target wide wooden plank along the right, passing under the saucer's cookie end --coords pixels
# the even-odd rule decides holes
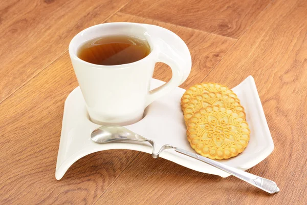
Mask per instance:
[[[305,1],[274,2],[203,80],[233,87],[254,76],[275,150],[249,172],[276,181],[280,193],[269,195],[232,176],[196,173],[142,153],[97,204],[304,204],[306,9]],[[126,197],[120,193],[124,187]]]

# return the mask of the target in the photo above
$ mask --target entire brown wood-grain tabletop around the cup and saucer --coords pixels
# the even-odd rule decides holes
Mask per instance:
[[[275,149],[249,172],[269,195],[149,154],[103,151],[57,181],[64,100],[78,86],[72,37],[104,22],[165,27],[182,37],[192,71],[182,88],[255,78]],[[306,0],[12,0],[0,4],[0,204],[304,204],[307,200]],[[158,64],[155,78],[169,80]]]

